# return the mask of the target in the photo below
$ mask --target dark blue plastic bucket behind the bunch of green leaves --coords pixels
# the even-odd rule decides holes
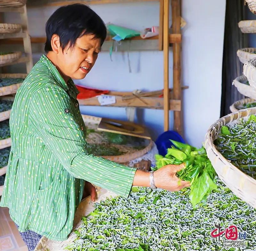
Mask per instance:
[[[185,143],[184,139],[180,136],[178,132],[166,131],[159,135],[155,142],[158,153],[160,155],[165,156],[167,154],[167,148],[171,148],[171,146],[173,145],[170,139],[181,143]]]

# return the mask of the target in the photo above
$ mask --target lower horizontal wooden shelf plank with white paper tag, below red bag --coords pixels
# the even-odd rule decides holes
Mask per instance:
[[[143,101],[141,101],[143,100]],[[80,105],[84,106],[100,106],[97,97],[78,99]],[[170,99],[170,110],[180,111],[181,102],[180,100]],[[121,96],[116,96],[116,103],[110,106],[114,107],[139,107],[148,109],[164,109],[164,99],[163,98],[140,98],[135,100],[122,100]]]

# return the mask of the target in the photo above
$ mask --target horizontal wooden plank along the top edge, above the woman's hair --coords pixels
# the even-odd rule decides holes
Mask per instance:
[[[80,1],[61,1],[61,0],[28,0],[27,7],[39,7],[39,6],[62,6],[74,3],[84,3],[84,4],[119,4],[119,3],[129,3],[129,2],[152,2],[158,0],[80,0]]]

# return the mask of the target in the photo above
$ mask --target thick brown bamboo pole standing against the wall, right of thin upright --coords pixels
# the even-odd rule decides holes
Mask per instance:
[[[180,34],[180,0],[172,0],[172,32]],[[181,99],[180,44],[173,43],[173,98]],[[174,112],[174,130],[182,135],[181,112]]]

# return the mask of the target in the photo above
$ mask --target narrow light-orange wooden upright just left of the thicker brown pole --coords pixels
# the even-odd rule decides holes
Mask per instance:
[[[169,130],[169,0],[164,0],[164,131]]]

